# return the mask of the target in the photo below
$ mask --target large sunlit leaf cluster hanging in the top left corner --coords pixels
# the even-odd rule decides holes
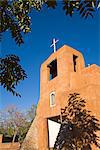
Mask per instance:
[[[31,9],[40,9],[40,2],[34,0],[1,0],[0,1],[0,32],[11,31],[17,44],[23,43],[22,32],[30,31]]]

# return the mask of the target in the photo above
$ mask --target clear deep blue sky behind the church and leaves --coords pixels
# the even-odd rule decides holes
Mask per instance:
[[[100,11],[99,11],[100,14]],[[40,65],[53,52],[50,48],[53,37],[59,39],[58,48],[69,45],[83,53],[86,64],[100,65],[100,15],[82,19],[78,14],[67,17],[62,8],[55,10],[44,8],[40,12],[33,11],[32,32],[24,37],[24,44],[18,47],[7,32],[1,43],[2,56],[16,54],[26,70],[28,78],[20,83],[17,91],[20,97],[12,96],[1,88],[0,109],[7,105],[16,105],[23,111],[39,100]]]

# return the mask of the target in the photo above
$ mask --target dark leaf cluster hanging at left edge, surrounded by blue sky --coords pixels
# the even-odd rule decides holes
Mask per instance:
[[[15,91],[15,87],[21,80],[27,77],[19,62],[20,59],[16,55],[8,55],[5,58],[0,58],[1,86],[16,96],[20,96],[20,94]]]

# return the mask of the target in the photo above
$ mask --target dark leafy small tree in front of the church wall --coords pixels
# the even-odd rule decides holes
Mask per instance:
[[[86,110],[85,100],[79,94],[69,95],[68,105],[61,110],[62,123],[54,149],[91,150],[91,145],[100,148],[96,132],[100,124],[95,116]]]

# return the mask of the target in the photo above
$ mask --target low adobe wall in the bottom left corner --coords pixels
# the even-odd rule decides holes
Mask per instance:
[[[20,144],[15,143],[2,143],[2,135],[0,135],[0,150],[20,150]]]

